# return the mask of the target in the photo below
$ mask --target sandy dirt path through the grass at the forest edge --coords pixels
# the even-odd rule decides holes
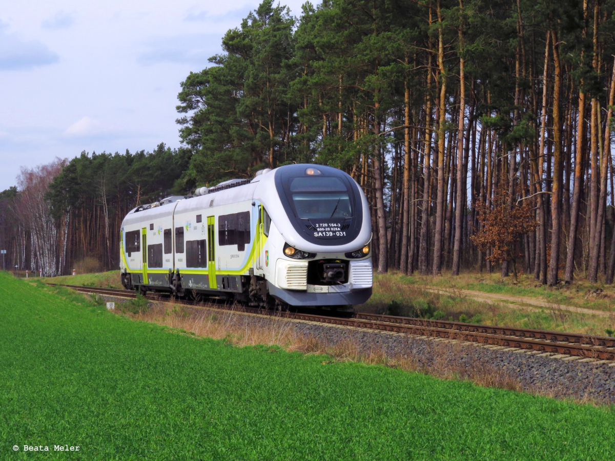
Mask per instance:
[[[483,293],[482,291],[459,290],[458,288],[438,288],[437,286],[424,286],[426,291],[448,296],[469,297],[475,301],[490,302],[492,304],[504,305],[506,307],[519,307],[527,310],[568,310],[570,312],[601,315],[608,317],[615,316],[615,312],[605,310],[586,309],[574,305],[558,304],[557,302],[544,301],[544,299],[530,296],[511,296],[510,294]]]

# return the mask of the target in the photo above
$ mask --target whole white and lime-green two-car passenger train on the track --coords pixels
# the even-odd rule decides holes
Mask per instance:
[[[362,304],[371,296],[371,219],[362,188],[325,165],[266,168],[130,210],[122,285],[141,294],[260,307]]]

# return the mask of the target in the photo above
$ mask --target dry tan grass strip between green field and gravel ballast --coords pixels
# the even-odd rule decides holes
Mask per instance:
[[[325,356],[323,363],[349,361],[383,365],[405,371],[423,372],[442,379],[470,380],[483,387],[522,390],[518,380],[491,364],[477,362],[472,363],[472,366],[466,366],[461,358],[467,349],[459,343],[429,341],[431,359],[427,363],[421,363],[411,353],[415,341],[411,337],[407,337],[409,353],[389,355],[383,347],[366,347],[353,337],[330,343],[311,334],[297,333],[293,323],[282,318],[250,316],[212,307],[195,309],[167,303],[152,304],[147,312],[137,314],[125,310],[117,312],[134,320],[167,326],[176,333],[221,339],[239,347],[277,346],[289,352],[323,355]]]

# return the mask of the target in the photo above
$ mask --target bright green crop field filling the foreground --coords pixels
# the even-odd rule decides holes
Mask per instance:
[[[0,275],[3,459],[612,459],[615,414],[237,348]],[[12,446],[20,447],[18,452]],[[50,452],[23,452],[23,445]]]

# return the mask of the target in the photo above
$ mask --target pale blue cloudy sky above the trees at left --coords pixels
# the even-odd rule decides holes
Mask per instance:
[[[293,15],[304,0],[282,2]],[[318,3],[318,2],[313,2]],[[4,2],[0,191],[86,152],[180,146],[177,94],[258,1]]]

